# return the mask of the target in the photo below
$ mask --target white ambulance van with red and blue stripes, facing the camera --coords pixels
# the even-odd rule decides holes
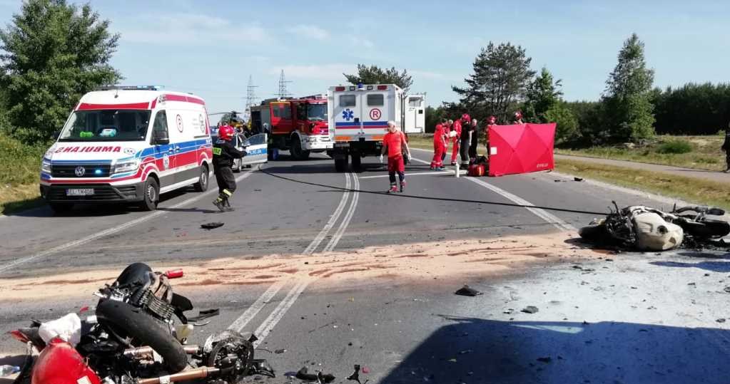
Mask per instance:
[[[43,157],[40,191],[54,211],[75,203],[138,203],[208,188],[212,141],[205,101],[158,87],[109,87],[83,95]]]

